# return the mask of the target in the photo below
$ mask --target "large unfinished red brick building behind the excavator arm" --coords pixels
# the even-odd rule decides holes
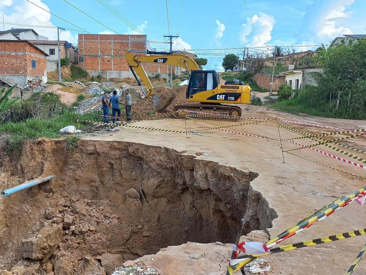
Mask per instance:
[[[127,50],[146,52],[150,42],[146,35],[130,34],[79,34],[79,67],[92,76],[104,78],[133,77],[124,57]],[[136,53],[145,54],[145,53]],[[145,63],[145,71],[152,76],[160,73],[169,79],[170,68],[167,65]],[[172,72],[180,74],[180,68],[173,66]]]

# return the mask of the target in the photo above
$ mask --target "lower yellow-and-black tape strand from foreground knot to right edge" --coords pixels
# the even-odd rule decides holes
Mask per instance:
[[[238,263],[236,263],[234,265],[229,265],[228,269],[227,269],[227,272],[226,272],[226,275],[232,275],[235,271],[239,270],[244,265],[246,265],[247,263],[250,263],[251,261],[257,259],[258,257],[270,255],[270,254],[273,254],[273,253],[279,253],[279,252],[284,252],[284,251],[295,250],[295,249],[303,248],[303,247],[314,246],[314,245],[318,245],[318,244],[324,244],[324,243],[338,241],[338,240],[344,240],[344,239],[347,239],[347,238],[352,238],[352,237],[361,236],[361,235],[366,235],[366,228],[365,229],[354,230],[354,231],[349,231],[349,232],[344,232],[344,233],[340,233],[340,234],[336,234],[336,235],[332,235],[332,236],[317,238],[317,239],[313,239],[313,240],[309,240],[309,241],[305,241],[305,242],[298,242],[296,244],[282,245],[280,247],[272,248],[270,250],[270,252],[260,254],[260,255],[243,255],[243,256],[239,256],[238,259],[236,259],[236,260],[240,260],[240,259],[243,259],[243,260],[239,261]]]

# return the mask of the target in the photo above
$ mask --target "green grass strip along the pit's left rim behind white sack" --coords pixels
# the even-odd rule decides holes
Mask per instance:
[[[0,133],[9,133],[9,149],[20,153],[25,140],[33,140],[40,137],[55,139],[60,137],[59,130],[68,125],[80,125],[84,127],[90,123],[78,119],[88,120],[100,118],[93,114],[75,114],[65,111],[64,114],[45,118],[32,118],[22,122],[9,122],[0,125]]]

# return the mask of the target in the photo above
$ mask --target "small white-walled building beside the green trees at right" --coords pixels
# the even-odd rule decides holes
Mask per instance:
[[[289,69],[280,72],[280,76],[285,76],[285,83],[292,87],[292,89],[301,89],[305,84],[316,85],[314,78],[309,74],[310,72],[321,72],[322,69],[317,66],[294,68],[290,65]]]

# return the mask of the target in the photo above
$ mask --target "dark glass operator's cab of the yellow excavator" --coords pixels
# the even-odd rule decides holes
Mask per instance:
[[[186,98],[192,98],[194,94],[202,91],[216,89],[219,84],[219,74],[216,71],[192,71],[188,81]]]

